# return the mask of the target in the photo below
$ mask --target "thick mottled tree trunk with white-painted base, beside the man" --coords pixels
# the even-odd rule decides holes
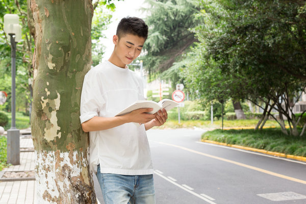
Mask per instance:
[[[35,24],[32,138],[37,203],[96,203],[80,123],[91,66],[90,0],[31,0]]]

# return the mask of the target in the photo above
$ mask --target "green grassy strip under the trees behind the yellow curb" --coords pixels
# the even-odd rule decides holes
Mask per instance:
[[[202,139],[276,151],[288,155],[306,156],[306,136],[290,137],[280,129],[226,130],[206,132]]]

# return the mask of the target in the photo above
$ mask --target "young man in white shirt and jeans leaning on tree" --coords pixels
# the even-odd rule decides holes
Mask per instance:
[[[89,70],[83,83],[80,119],[83,130],[90,135],[90,166],[106,204],[155,203],[145,131],[164,124],[167,112],[151,115],[147,114],[151,109],[138,109],[115,116],[144,99],[141,79],[126,65],[139,56],[147,32],[142,19],[121,19],[113,36],[111,57]]]

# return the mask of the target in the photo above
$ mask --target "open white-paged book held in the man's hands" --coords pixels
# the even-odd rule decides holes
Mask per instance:
[[[125,115],[127,113],[131,113],[134,110],[141,109],[141,108],[152,108],[153,110],[148,112],[149,114],[155,114],[161,109],[165,109],[166,111],[171,110],[172,108],[178,106],[179,103],[176,103],[174,100],[170,99],[162,99],[159,103],[156,103],[152,100],[138,100],[131,106],[125,108],[124,110],[120,111],[116,116]]]

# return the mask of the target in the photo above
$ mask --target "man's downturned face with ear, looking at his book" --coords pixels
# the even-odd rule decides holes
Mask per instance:
[[[141,53],[144,41],[144,38],[132,34],[121,36],[120,39],[118,36],[114,36],[115,62],[113,63],[119,67],[125,67],[126,64],[130,64]]]

